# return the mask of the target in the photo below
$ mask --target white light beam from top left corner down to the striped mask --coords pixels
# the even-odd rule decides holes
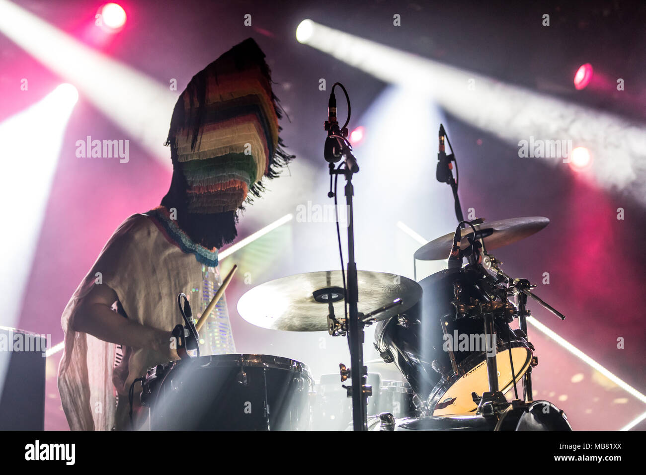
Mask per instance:
[[[0,32],[43,65],[74,83],[99,111],[154,158],[171,168],[164,147],[178,92],[141,74],[8,0],[0,0]]]

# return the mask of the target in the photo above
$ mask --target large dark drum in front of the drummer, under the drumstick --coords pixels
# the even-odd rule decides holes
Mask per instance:
[[[271,355],[212,355],[148,370],[141,404],[151,430],[309,428],[313,379],[300,361]]]

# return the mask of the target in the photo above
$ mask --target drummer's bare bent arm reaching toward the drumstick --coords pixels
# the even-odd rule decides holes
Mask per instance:
[[[178,359],[171,348],[171,332],[121,318],[112,311],[117,294],[105,284],[95,285],[83,298],[72,327],[76,332],[89,333],[100,340],[133,348],[150,348],[170,359]]]

